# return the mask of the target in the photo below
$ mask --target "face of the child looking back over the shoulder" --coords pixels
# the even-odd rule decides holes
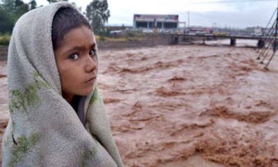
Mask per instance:
[[[97,77],[95,39],[87,26],[72,29],[54,50],[63,97],[71,102],[74,95],[89,95]]]

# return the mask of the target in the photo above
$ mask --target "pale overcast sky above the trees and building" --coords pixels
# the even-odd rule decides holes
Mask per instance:
[[[29,0],[24,0],[28,2]],[[92,0],[70,0],[85,11]],[[231,2],[234,1],[234,2]],[[190,26],[245,28],[266,26],[278,0],[108,0],[111,17],[108,24],[132,26],[133,14],[174,14]],[[47,5],[47,0],[37,0]],[[276,17],[276,15],[275,15]]]

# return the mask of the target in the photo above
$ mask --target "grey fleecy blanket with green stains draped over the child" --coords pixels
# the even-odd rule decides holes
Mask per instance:
[[[58,2],[24,14],[8,49],[10,120],[3,166],[123,166],[104,105],[94,85],[81,97],[85,126],[63,98],[51,41]]]

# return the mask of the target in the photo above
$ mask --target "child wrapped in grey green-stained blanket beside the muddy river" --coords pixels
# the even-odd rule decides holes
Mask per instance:
[[[123,166],[97,90],[94,34],[53,3],[23,15],[8,50],[3,166]]]

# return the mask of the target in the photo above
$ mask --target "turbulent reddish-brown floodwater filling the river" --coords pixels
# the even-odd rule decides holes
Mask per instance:
[[[125,166],[278,166],[278,57],[264,70],[258,55],[204,45],[99,51],[99,89]],[[1,61],[0,127],[6,81]]]

